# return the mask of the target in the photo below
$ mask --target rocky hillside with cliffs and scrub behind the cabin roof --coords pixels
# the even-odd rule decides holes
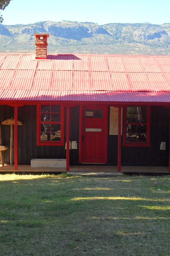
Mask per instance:
[[[34,52],[34,33],[50,33],[49,53],[170,54],[170,23],[44,21],[29,25],[0,23],[0,52]]]

